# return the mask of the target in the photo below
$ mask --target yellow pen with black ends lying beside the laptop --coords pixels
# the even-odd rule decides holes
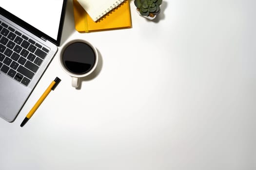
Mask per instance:
[[[39,98],[38,102],[32,107],[32,109],[29,111],[25,119],[20,124],[20,127],[23,127],[24,124],[32,117],[32,115],[36,112],[36,110],[39,108],[40,104],[44,101],[44,99],[48,96],[48,94],[51,92],[51,90],[54,90],[57,85],[59,85],[59,82],[61,80],[56,77],[56,79],[48,86],[48,88],[44,91],[42,96]]]

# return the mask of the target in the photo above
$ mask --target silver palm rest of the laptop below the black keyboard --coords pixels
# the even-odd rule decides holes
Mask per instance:
[[[27,100],[31,88],[0,72],[0,117],[13,121]]]

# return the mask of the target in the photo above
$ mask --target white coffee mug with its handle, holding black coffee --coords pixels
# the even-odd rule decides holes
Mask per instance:
[[[95,46],[82,39],[66,43],[60,51],[61,68],[72,77],[72,86],[79,86],[79,79],[90,75],[98,64]]]

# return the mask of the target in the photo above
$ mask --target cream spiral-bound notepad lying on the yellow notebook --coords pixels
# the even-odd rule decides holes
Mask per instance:
[[[78,0],[83,9],[96,22],[118,7],[124,0]]]

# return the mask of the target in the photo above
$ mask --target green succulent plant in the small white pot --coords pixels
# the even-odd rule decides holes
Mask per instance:
[[[154,17],[160,12],[162,0],[134,0],[140,15]]]

